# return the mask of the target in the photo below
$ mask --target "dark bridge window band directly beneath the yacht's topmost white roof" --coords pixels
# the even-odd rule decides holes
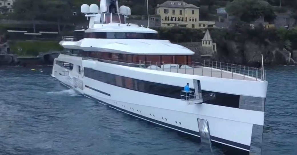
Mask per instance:
[[[157,33],[130,33],[130,32],[92,32],[84,33],[84,38],[103,39],[158,39]]]

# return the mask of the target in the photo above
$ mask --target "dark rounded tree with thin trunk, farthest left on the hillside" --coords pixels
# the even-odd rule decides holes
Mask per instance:
[[[19,19],[31,20],[35,30],[35,20],[41,17],[45,10],[45,0],[18,0],[13,3],[15,15]]]

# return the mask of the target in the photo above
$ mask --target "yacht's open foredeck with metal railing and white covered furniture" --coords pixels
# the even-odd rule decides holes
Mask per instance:
[[[192,64],[188,65],[168,64],[140,60],[139,67],[151,70],[210,76],[216,78],[266,81],[266,71],[264,72],[263,76],[262,69],[208,60],[205,60],[204,63],[192,62]]]

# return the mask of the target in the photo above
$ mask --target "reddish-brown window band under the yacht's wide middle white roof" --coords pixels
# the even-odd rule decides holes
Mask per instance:
[[[93,57],[98,59],[113,60],[119,62],[139,63],[139,61],[156,62],[158,65],[164,64],[187,64],[192,65],[190,55],[133,55],[108,53],[99,51],[82,51],[78,52],[78,56]]]

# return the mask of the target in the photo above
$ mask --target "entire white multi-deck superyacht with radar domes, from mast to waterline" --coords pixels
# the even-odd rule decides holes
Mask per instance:
[[[83,4],[89,27],[60,42],[52,76],[113,109],[200,137],[203,143],[261,154],[267,85],[264,70],[206,61],[126,23],[117,0]],[[189,83],[190,91],[184,86]]]

